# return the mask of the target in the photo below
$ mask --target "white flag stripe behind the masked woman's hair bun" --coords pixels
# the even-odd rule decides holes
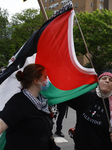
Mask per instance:
[[[35,63],[36,53],[26,59],[24,66],[20,69],[23,70],[25,66],[31,63]],[[17,70],[18,71],[18,70]],[[16,72],[17,72],[16,71]],[[0,111],[4,108],[5,103],[17,92],[20,92],[20,82],[17,81],[15,74],[12,73],[1,85],[0,85]]]

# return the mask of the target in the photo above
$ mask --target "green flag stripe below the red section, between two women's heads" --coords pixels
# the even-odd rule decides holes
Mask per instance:
[[[70,100],[72,98],[78,97],[88,91],[91,91],[96,86],[97,83],[94,83],[92,85],[86,84],[73,90],[64,91],[64,90],[59,90],[55,86],[50,84],[49,88],[46,91],[41,91],[41,93],[46,98],[48,98],[49,105],[55,105]]]

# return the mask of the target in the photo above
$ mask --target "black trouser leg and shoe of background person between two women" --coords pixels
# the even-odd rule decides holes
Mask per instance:
[[[58,110],[58,116],[56,119],[56,132],[58,136],[64,137],[64,134],[62,133],[62,123],[63,119],[67,110],[67,105],[65,103],[57,104],[57,110]]]

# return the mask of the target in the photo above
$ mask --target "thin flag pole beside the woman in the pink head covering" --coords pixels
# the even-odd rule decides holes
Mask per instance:
[[[91,65],[92,65],[92,67],[94,68],[94,65],[93,65],[93,63],[92,63],[91,56],[90,56],[90,53],[89,53],[89,50],[88,50],[88,47],[87,47],[87,44],[86,44],[84,35],[83,35],[83,33],[82,33],[82,30],[81,30],[81,27],[80,27],[80,25],[79,25],[79,22],[78,22],[78,19],[77,19],[76,14],[75,14],[75,19],[76,19],[76,22],[77,22],[77,24],[78,24],[78,27],[79,27],[79,30],[80,30],[80,33],[81,33],[81,36],[82,36],[84,45],[85,45],[85,47],[86,47],[86,51],[87,51],[87,53],[88,53],[90,63],[91,63]],[[94,68],[94,70],[95,70],[95,68]],[[99,82],[99,81],[98,81],[98,82]],[[100,87],[99,87],[99,89],[100,89]],[[104,98],[103,98],[101,89],[100,89],[100,93],[101,93],[101,98],[102,98],[102,101],[103,101],[104,109],[105,109],[105,112],[106,112],[106,115],[107,115],[107,119],[108,119],[110,131],[112,132],[112,126],[111,126],[111,123],[110,123],[109,114],[108,114],[108,112],[107,112],[106,104],[105,104],[105,101],[104,101]]]

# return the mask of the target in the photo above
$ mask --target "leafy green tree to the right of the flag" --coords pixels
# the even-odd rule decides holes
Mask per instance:
[[[105,68],[112,68],[112,11],[105,9],[76,15],[96,72],[99,74]],[[77,24],[74,26],[74,44],[77,55],[87,54]]]

